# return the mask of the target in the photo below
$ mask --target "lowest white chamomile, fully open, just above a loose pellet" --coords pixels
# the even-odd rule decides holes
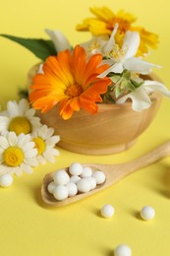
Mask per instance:
[[[31,167],[38,164],[36,155],[30,135],[22,133],[17,136],[15,132],[6,132],[0,136],[0,174],[31,173]]]

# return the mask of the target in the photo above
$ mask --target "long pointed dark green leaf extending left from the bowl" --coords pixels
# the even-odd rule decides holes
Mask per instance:
[[[43,61],[50,55],[57,54],[52,40],[22,38],[4,33],[1,33],[0,36],[6,37],[12,41],[23,45],[24,47],[28,48],[28,50],[30,50],[36,57]]]

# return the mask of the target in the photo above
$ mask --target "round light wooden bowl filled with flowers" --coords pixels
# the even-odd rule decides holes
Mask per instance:
[[[37,111],[43,124],[60,135],[58,146],[85,155],[109,155],[129,149],[148,127],[159,108],[162,96],[152,94],[149,108],[137,112],[132,102],[98,104],[98,113],[74,112],[69,120],[59,115],[58,106],[45,114]]]

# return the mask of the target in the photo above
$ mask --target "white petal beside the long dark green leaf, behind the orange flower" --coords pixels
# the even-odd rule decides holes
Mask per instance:
[[[62,51],[66,49],[71,49],[71,44],[68,41],[68,39],[65,37],[65,35],[62,32],[59,31],[51,31],[51,30],[45,30],[45,32],[48,33],[48,35],[51,37],[56,51]]]

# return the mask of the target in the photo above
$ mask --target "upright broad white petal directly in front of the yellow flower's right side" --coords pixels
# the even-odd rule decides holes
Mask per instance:
[[[124,59],[131,58],[136,55],[140,45],[139,32],[126,32],[124,42],[122,45],[123,52],[125,52]]]

